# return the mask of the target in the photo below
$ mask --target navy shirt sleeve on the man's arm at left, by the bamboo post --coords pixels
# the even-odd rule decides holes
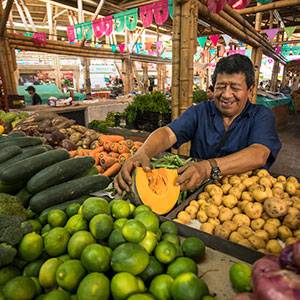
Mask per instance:
[[[177,142],[173,145],[174,148],[179,148],[194,137],[198,124],[197,106],[199,105],[191,106],[179,118],[168,124],[177,138]]]

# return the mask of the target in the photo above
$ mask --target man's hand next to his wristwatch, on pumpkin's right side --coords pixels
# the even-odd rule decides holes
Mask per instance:
[[[189,163],[178,169],[176,184],[180,185],[180,190],[192,190],[198,188],[200,184],[209,179],[211,166],[207,160]]]

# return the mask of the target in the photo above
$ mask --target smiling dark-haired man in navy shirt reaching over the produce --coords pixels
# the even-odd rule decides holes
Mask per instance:
[[[268,108],[250,103],[254,67],[243,55],[222,58],[213,74],[214,101],[191,106],[168,126],[155,130],[125,162],[115,178],[119,193],[129,191],[131,171],[150,169],[150,159],[191,141],[190,156],[200,159],[178,169],[181,190],[208,178],[269,168],[281,148],[275,118]]]

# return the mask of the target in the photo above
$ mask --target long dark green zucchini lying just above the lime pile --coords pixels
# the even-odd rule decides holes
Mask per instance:
[[[34,212],[40,213],[50,206],[103,190],[109,183],[110,179],[102,175],[73,179],[35,194],[30,199],[29,207]]]

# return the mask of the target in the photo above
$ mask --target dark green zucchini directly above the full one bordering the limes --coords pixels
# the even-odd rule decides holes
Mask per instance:
[[[60,161],[31,177],[27,182],[27,190],[32,194],[36,194],[50,186],[66,182],[89,170],[94,163],[95,160],[90,156]]]

